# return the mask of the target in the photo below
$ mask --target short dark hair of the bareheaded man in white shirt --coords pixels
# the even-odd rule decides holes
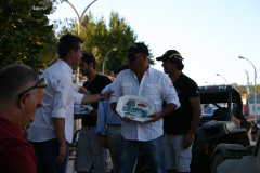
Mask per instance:
[[[83,43],[83,40],[81,40],[79,37],[66,34],[61,37],[60,43],[58,43],[58,55],[61,58],[65,58],[68,54],[68,52],[73,49],[75,49],[76,52],[78,52],[79,43]]]

